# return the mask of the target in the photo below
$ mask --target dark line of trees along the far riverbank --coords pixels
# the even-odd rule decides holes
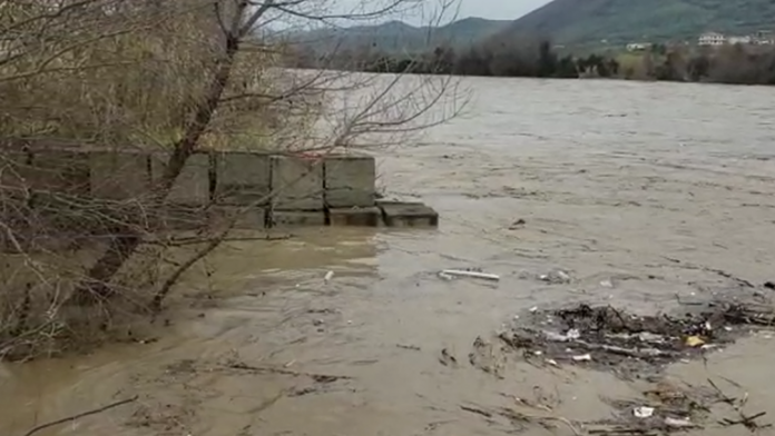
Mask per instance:
[[[389,53],[374,47],[318,56],[297,50],[296,68],[481,77],[618,78],[680,82],[775,85],[775,47],[667,47],[619,56],[560,56],[549,40],[490,39],[464,48]]]

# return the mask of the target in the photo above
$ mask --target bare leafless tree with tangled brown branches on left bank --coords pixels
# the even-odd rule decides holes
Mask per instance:
[[[199,249],[169,260],[166,277],[137,277],[158,275],[165,252],[182,244],[161,237],[159,222],[196,152],[384,147],[453,116],[457,106],[431,110],[460,102],[450,78],[296,71],[279,63],[288,47],[275,38],[277,29],[416,7],[391,0],[339,13],[318,0],[2,2],[0,234],[16,254],[3,269],[0,357],[75,331],[67,318],[75,309],[63,310],[65,301],[76,309],[96,303],[109,313],[120,298],[158,309],[187,268],[227,239],[233,221],[199,229],[186,237]],[[147,194],[95,199],[82,195],[76,164],[29,177],[42,165],[30,160],[36,147],[154,150],[165,160]],[[159,280],[160,287],[151,285]],[[153,289],[150,300],[136,293],[145,287]]]

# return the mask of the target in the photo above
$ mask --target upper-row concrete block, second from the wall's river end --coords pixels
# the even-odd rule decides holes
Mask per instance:
[[[323,210],[323,165],[292,156],[272,157],[273,208]]]

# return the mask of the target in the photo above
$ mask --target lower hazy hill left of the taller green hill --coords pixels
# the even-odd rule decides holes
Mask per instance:
[[[383,51],[424,51],[430,47],[460,46],[479,41],[508,28],[512,20],[465,18],[441,27],[414,27],[401,21],[313,30],[290,36],[317,51],[373,47]]]

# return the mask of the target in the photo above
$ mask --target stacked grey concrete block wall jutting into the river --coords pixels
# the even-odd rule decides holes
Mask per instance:
[[[169,155],[144,152],[35,150],[9,153],[18,161],[18,177],[39,192],[62,192],[107,200],[141,199],[151,192],[166,169]],[[235,210],[248,207],[238,227],[379,226],[400,221],[396,206],[390,217],[376,201],[376,165],[365,155],[330,155],[321,159],[251,152],[202,152],[187,161],[175,181],[164,219],[173,227],[199,216],[222,222]],[[13,180],[19,185],[19,180]],[[8,186],[8,185],[7,185]],[[406,226],[435,226],[438,214],[428,208],[426,219]],[[400,209],[400,208],[399,208]],[[213,221],[210,220],[210,221]],[[398,220],[398,221],[396,221]],[[174,225],[182,222],[182,226]],[[399,224],[400,225],[400,224]]]

